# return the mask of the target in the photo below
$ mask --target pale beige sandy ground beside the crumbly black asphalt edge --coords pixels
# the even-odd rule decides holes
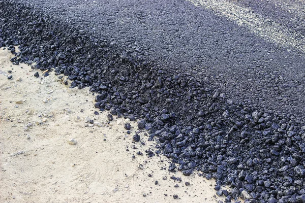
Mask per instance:
[[[0,202],[216,202],[220,198],[215,196],[215,181],[169,173],[166,157],[148,157],[145,150],[155,152],[154,142],[142,133],[146,145],[134,143],[137,128],[128,135],[124,129],[128,119],[114,116],[108,123],[107,112],[94,115],[95,96],[88,89],[71,89],[63,84],[65,78],[53,73],[43,77],[39,71],[36,78],[36,70],[12,65],[11,57],[1,48]],[[94,124],[86,123],[87,117]],[[77,144],[70,145],[69,139]],[[191,184],[186,186],[186,181]]]

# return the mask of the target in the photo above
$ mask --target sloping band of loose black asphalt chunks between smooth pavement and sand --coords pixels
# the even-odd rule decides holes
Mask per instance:
[[[138,119],[138,128],[157,139],[157,148],[173,162],[169,171],[198,170],[215,178],[216,190],[232,188],[227,199],[241,194],[249,202],[305,199],[305,127],[295,117],[226,98],[208,80],[173,74],[140,51],[123,52],[31,5],[0,1],[0,8],[0,47],[16,55],[12,62],[51,67],[68,75],[72,86],[90,86],[95,107]]]

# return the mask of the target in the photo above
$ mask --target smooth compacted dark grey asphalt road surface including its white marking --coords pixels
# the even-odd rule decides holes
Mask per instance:
[[[142,52],[228,97],[304,119],[304,1],[28,2],[93,30],[122,53]]]

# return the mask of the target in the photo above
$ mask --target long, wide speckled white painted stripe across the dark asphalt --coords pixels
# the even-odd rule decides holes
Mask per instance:
[[[217,15],[235,21],[239,26],[247,27],[256,35],[284,47],[292,47],[305,52],[305,37],[292,32],[280,24],[254,13],[250,8],[220,0],[188,0],[195,6],[213,10]]]

